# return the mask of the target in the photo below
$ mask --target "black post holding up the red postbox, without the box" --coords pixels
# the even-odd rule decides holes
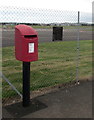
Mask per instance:
[[[23,107],[30,104],[30,62],[23,62]]]

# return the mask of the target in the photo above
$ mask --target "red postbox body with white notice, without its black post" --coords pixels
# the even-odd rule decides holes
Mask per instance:
[[[15,57],[23,62],[38,60],[38,34],[32,27],[15,27]]]

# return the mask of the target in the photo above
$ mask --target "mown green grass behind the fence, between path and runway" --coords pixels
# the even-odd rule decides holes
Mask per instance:
[[[31,62],[31,90],[76,80],[77,42],[39,44],[39,60]],[[92,41],[80,41],[79,78],[92,75]],[[3,74],[22,92],[22,62],[17,61],[14,47],[3,48]],[[3,98],[16,93],[3,80]]]

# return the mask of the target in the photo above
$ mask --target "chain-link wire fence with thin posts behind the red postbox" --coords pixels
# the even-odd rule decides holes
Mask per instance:
[[[80,14],[78,14],[80,13]],[[89,13],[0,8],[2,30],[2,103],[22,100],[22,62],[15,58],[15,26],[26,24],[38,33],[38,61],[31,62],[31,98],[91,79],[92,27]],[[53,41],[53,27],[62,27],[62,40]]]

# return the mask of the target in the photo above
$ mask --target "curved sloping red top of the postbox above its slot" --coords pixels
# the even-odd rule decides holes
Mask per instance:
[[[17,25],[15,29],[18,29],[21,35],[37,35],[37,32],[27,25]]]

